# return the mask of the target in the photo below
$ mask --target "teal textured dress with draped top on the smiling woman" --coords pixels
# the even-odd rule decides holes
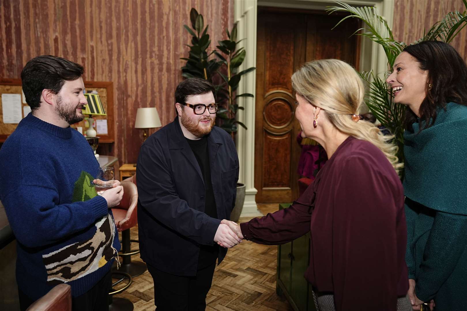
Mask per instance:
[[[404,133],[409,279],[436,311],[466,311],[467,107],[448,103],[431,127],[413,129]]]

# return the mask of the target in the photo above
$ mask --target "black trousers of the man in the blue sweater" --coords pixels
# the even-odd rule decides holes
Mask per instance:
[[[83,295],[71,298],[73,311],[102,311],[109,310],[109,290],[112,283],[111,271]],[[35,302],[18,288],[20,298],[20,310],[26,311]]]

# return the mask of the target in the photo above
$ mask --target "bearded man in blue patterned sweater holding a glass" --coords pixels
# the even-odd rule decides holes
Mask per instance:
[[[110,269],[120,249],[109,208],[119,182],[97,195],[99,163],[70,124],[83,120],[81,65],[43,55],[21,72],[31,107],[0,150],[0,200],[17,240],[21,310],[55,285],[71,285],[73,310],[106,310]],[[110,213],[110,214],[109,214]]]

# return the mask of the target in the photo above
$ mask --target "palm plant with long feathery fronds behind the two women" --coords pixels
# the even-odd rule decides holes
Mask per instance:
[[[449,12],[442,21],[436,22],[423,37],[413,42],[438,40],[449,43],[459,32],[467,25],[467,0],[462,0],[466,11]],[[354,35],[363,35],[370,40],[380,44],[388,58],[388,67],[392,68],[397,55],[407,46],[402,41],[397,41],[392,35],[392,31],[386,20],[378,15],[375,7],[352,7],[346,3],[336,1],[338,6],[327,7],[326,11],[331,14],[334,12],[344,12],[349,15],[344,17],[337,25],[348,18],[358,18],[366,25],[354,32]],[[336,26],[337,26],[336,25]],[[385,73],[384,73],[385,74]],[[400,161],[403,161],[403,116],[405,106],[395,104],[393,93],[385,82],[385,75],[381,73],[362,72],[360,76],[368,83],[368,92],[365,102],[375,117],[381,124],[394,134],[396,143],[399,147],[397,154]]]

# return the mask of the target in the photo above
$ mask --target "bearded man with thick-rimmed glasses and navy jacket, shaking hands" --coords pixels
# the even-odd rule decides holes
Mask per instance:
[[[214,127],[213,85],[189,78],[175,91],[177,117],[142,145],[136,166],[141,258],[157,311],[205,310],[216,259],[241,240],[221,219],[235,204],[232,137]]]

